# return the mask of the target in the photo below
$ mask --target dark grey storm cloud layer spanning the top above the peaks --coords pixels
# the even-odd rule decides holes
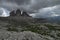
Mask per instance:
[[[9,8],[38,10],[40,8],[60,4],[59,0],[1,0],[0,5]]]

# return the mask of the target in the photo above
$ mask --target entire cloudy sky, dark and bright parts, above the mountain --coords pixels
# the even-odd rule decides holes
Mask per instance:
[[[33,17],[60,16],[60,0],[0,0],[0,16],[9,16],[18,8]]]

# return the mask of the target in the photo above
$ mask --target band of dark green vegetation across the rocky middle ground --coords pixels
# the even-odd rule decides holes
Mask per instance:
[[[43,28],[44,27],[41,27],[44,26],[44,27],[47,27],[48,30],[44,30]],[[19,27],[20,26],[20,27]],[[8,31],[31,31],[31,32],[35,32],[35,33],[38,33],[38,34],[42,34],[42,35],[50,35],[50,32],[52,30],[56,30],[55,27],[57,26],[54,26],[52,24],[35,24],[35,23],[28,23],[28,22],[14,22],[14,23],[11,23],[11,25],[7,25],[6,26],[8,29]],[[21,28],[21,29],[18,29],[18,28]],[[52,36],[52,35],[51,35]],[[59,36],[59,35],[58,35]]]

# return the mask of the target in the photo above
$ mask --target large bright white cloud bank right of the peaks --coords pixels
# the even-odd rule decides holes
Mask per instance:
[[[35,17],[53,17],[60,16],[60,5],[39,9]]]

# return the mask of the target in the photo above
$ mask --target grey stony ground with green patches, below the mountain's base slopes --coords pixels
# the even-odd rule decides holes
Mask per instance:
[[[0,40],[60,40],[60,25],[0,21]]]

